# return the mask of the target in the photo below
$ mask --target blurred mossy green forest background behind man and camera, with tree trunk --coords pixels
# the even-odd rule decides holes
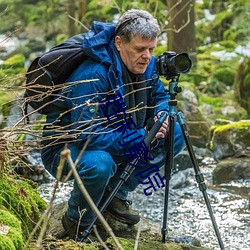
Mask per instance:
[[[213,113],[225,118],[220,107],[233,102],[237,112],[229,114],[229,119],[249,117],[247,0],[0,0],[0,33],[4,35],[0,40],[1,127],[5,126],[11,107],[2,104],[23,90],[17,86],[24,85],[27,66],[35,56],[72,35],[86,32],[93,20],[116,22],[121,13],[131,8],[146,9],[158,19],[162,33],[155,56],[165,51],[189,53],[193,66],[188,75],[181,76],[181,81],[195,85],[200,103],[212,105]],[[5,44],[14,38],[19,43],[8,52]]]

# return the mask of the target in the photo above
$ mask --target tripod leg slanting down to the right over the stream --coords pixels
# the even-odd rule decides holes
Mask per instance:
[[[203,177],[203,174],[201,173],[201,171],[199,169],[198,162],[197,162],[197,159],[195,157],[195,154],[194,154],[194,151],[193,151],[190,139],[189,139],[189,133],[188,133],[187,128],[186,128],[184,116],[183,116],[183,114],[181,112],[178,112],[177,113],[177,118],[178,118],[179,124],[181,126],[181,130],[182,130],[185,142],[186,142],[186,146],[187,146],[187,150],[188,150],[190,159],[191,159],[191,161],[193,163],[196,181],[197,181],[197,183],[199,185],[200,191],[203,194],[203,197],[204,197],[204,200],[205,200],[205,203],[206,203],[206,206],[207,206],[207,209],[208,209],[208,212],[209,212],[209,215],[210,215],[210,218],[211,218],[211,221],[212,221],[212,224],[213,224],[213,228],[214,228],[216,237],[218,239],[220,248],[221,248],[221,250],[224,250],[225,247],[223,245],[223,242],[222,242],[222,239],[221,239],[221,236],[220,236],[220,232],[219,232],[219,229],[218,229],[218,226],[217,226],[217,223],[216,223],[213,211],[212,211],[212,207],[211,207],[210,201],[208,199],[208,195],[207,195],[207,192],[206,192],[207,188],[206,188],[206,184],[204,182],[204,177]]]

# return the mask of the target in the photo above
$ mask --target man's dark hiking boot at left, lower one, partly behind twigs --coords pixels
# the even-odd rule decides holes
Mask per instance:
[[[86,239],[83,237],[83,232],[87,227],[78,225],[75,221],[68,217],[67,213],[62,217],[62,224],[65,230],[65,236],[78,242],[91,243],[97,241],[97,238],[90,234]]]

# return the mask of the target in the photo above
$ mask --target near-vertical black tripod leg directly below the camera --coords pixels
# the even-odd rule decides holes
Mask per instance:
[[[165,196],[164,196],[164,212],[163,212],[163,225],[162,225],[162,242],[166,242],[166,235],[168,232],[167,228],[167,217],[168,217],[168,199],[169,199],[169,183],[172,176],[172,169],[174,165],[174,122],[175,118],[173,115],[169,115],[169,132],[166,138],[166,162],[165,162]]]

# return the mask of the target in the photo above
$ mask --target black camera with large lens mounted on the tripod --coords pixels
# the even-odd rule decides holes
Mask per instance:
[[[156,59],[157,73],[165,76],[167,80],[187,73],[191,66],[192,61],[187,53],[176,54],[174,51],[167,51]]]

